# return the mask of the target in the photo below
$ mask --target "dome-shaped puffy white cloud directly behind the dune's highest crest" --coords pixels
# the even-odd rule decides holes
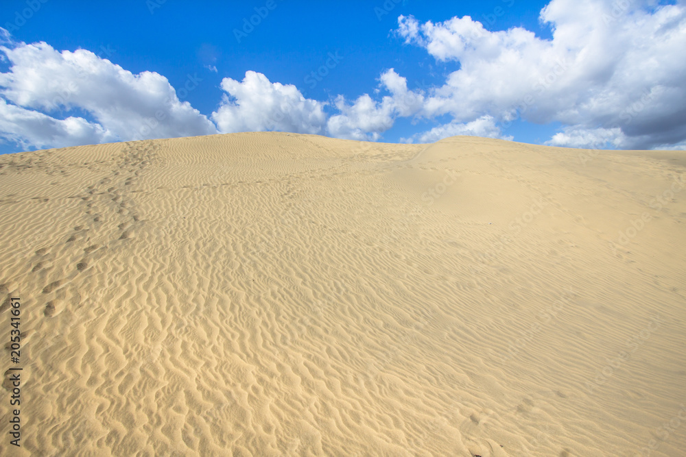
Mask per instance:
[[[247,71],[243,82],[224,78],[222,104],[212,113],[220,132],[281,130],[318,134],[326,124],[324,103],[306,99],[292,84],[272,83],[262,73]]]

